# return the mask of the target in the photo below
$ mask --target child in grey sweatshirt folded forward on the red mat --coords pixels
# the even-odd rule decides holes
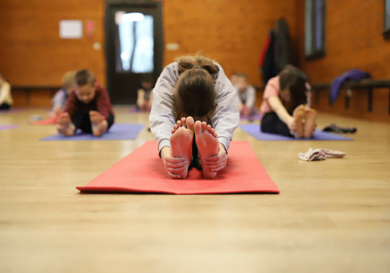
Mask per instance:
[[[214,178],[240,122],[236,90],[222,67],[200,54],[179,57],[161,73],[153,96],[150,129],[169,175],[185,178],[195,166]]]

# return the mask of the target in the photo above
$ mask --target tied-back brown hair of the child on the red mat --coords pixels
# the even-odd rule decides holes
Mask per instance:
[[[179,79],[173,94],[174,115],[204,117],[216,107],[212,75],[218,73],[216,63],[205,56],[181,56],[178,63]]]

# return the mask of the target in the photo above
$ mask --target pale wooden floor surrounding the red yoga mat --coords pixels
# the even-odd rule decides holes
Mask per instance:
[[[147,114],[115,107],[118,123]],[[355,126],[353,141],[258,141],[240,129],[280,194],[80,194],[154,140],[39,141],[44,109],[1,113],[0,272],[390,272],[390,126]],[[344,159],[305,162],[312,148]],[[157,156],[157,154],[156,154]]]

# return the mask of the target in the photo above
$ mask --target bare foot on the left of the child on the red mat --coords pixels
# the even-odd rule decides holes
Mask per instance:
[[[191,116],[181,118],[172,128],[171,153],[175,158],[184,157],[188,164],[185,169],[178,173],[180,178],[184,179],[188,174],[188,167],[192,156],[192,140],[193,140],[193,118]]]

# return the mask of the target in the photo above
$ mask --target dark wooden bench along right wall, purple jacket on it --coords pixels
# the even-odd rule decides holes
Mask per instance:
[[[313,84],[311,89],[315,95],[315,104],[319,104],[319,92],[320,90],[330,90],[330,83]],[[367,89],[368,93],[368,111],[372,111],[372,90],[374,88],[388,88],[389,89],[389,102],[388,102],[388,113],[390,114],[390,79],[376,80],[376,79],[363,79],[360,81],[344,81],[341,85],[342,89],[345,89],[345,109],[349,108],[349,98],[352,95],[353,89]]]

